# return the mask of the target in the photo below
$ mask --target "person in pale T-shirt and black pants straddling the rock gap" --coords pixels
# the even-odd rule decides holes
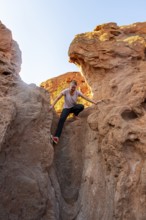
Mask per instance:
[[[101,100],[98,102],[94,102],[93,100],[89,99],[88,97],[85,97],[80,91],[76,90],[76,88],[77,88],[77,82],[75,80],[72,80],[70,83],[70,87],[63,90],[60,93],[60,95],[55,99],[55,101],[53,102],[53,104],[50,108],[50,109],[52,109],[54,107],[54,105],[58,102],[58,100],[61,99],[62,96],[64,96],[64,100],[65,100],[64,107],[63,107],[62,113],[60,115],[57,130],[55,132],[55,135],[51,136],[51,138],[55,144],[57,144],[59,142],[59,138],[61,136],[63,125],[64,125],[64,122],[65,122],[67,116],[70,113],[73,113],[74,118],[79,119],[78,114],[81,111],[83,111],[83,109],[84,109],[84,105],[76,104],[78,96],[82,97],[83,99],[85,99],[95,105],[98,102],[101,102]]]

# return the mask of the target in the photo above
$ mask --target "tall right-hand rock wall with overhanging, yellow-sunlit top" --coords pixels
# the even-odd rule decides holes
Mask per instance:
[[[87,118],[76,219],[144,220],[146,23],[97,26],[75,37],[69,56],[95,98],[109,99]]]

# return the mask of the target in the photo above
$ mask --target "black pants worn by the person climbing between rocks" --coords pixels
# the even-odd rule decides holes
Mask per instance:
[[[60,115],[60,119],[59,119],[59,122],[58,122],[58,126],[57,126],[57,130],[56,130],[56,133],[55,133],[55,137],[60,137],[60,135],[62,133],[62,128],[63,128],[64,122],[67,119],[67,116],[70,113],[74,113],[74,115],[77,116],[81,111],[83,111],[83,109],[84,109],[84,105],[82,105],[82,104],[76,104],[72,108],[64,108],[62,110],[61,115]]]

